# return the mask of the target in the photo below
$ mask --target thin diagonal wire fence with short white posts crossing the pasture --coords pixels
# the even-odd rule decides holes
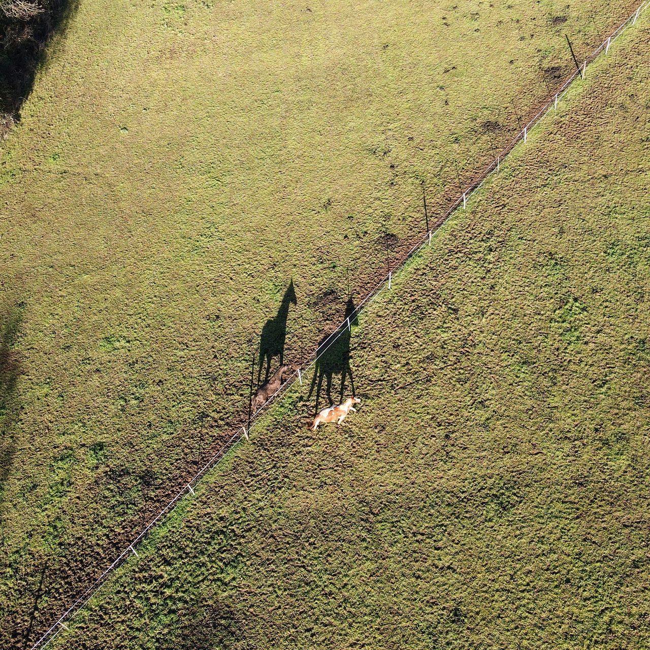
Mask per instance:
[[[452,205],[449,207],[449,209],[439,216],[437,220],[434,221],[434,223],[429,227],[429,229],[424,233],[424,235],[415,242],[413,247],[406,253],[404,253],[395,263],[393,266],[394,270],[399,270],[402,268],[402,266],[406,265],[406,263],[416,255],[418,252],[422,250],[427,245],[431,244],[432,241],[432,236],[434,233],[450,218],[450,216],[456,212],[456,210],[460,209],[461,207],[465,209],[467,207],[467,201],[471,196],[477,192],[482,185],[487,181],[487,179],[494,174],[495,172],[499,172],[500,166],[504,159],[508,156],[508,154],[512,151],[512,149],[515,148],[515,146],[523,141],[524,143],[528,140],[528,133],[530,133],[530,129],[534,127],[537,123],[541,122],[541,120],[549,114],[552,110],[556,110],[558,107],[558,102],[560,99],[564,97],[566,94],[567,90],[569,89],[569,86],[575,81],[577,77],[580,77],[581,79],[584,79],[586,76],[586,70],[588,66],[593,62],[593,60],[597,59],[603,52],[605,55],[609,53],[611,45],[614,43],[616,38],[620,36],[620,34],[627,29],[630,25],[634,25],[636,21],[638,20],[639,16],[642,14],[643,11],[645,11],[648,7],[650,6],[650,0],[645,0],[643,1],[637,8],[634,10],[630,16],[619,25],[593,52],[591,52],[586,59],[584,59],[584,62],[582,63],[582,66],[577,68],[575,72],[569,77],[564,84],[555,92],[553,96],[551,96],[551,99],[547,101],[539,109],[539,111],[534,115],[534,117],[517,133],[517,135],[512,138],[512,140],[506,145],[506,147],[501,151],[499,155],[493,161],[491,161],[479,174],[478,177],[476,178],[476,181],[474,181],[465,191],[458,196],[458,198],[452,203]],[[183,488],[162,508],[162,510],[149,522],[145,528],[140,531],[140,534],[136,536],[131,543],[113,560],[113,562],[105,569],[105,571],[96,579],[88,588],[86,588],[79,597],[72,603],[72,605],[53,623],[53,625],[34,643],[34,645],[31,646],[31,650],[39,650],[44,648],[51,640],[57,636],[61,630],[67,630],[68,626],[66,625],[67,622],[69,622],[72,617],[85,606],[88,601],[101,589],[103,584],[108,580],[110,575],[118,569],[124,562],[129,558],[131,555],[135,555],[136,557],[138,556],[138,552],[136,551],[136,546],[144,539],[146,536],[148,536],[149,532],[153,530],[157,525],[162,523],[162,521],[166,518],[166,516],[174,510],[174,508],[177,506],[179,501],[183,499],[184,497],[187,497],[188,495],[194,495],[194,488],[198,485],[198,483],[201,482],[201,480],[205,477],[209,471],[214,469],[218,463],[226,456],[227,452],[229,452],[231,449],[237,445],[242,439],[249,439],[249,433],[250,430],[260,422],[260,416],[263,411],[268,409],[268,407],[273,404],[276,400],[281,398],[284,393],[289,390],[294,383],[299,382],[302,384],[302,376],[303,374],[311,369],[315,363],[317,363],[318,359],[325,354],[330,347],[335,344],[339,337],[343,335],[344,332],[350,331],[352,329],[352,323],[356,318],[359,316],[361,311],[365,309],[375,298],[377,298],[380,294],[385,289],[391,289],[393,281],[393,271],[389,271],[386,276],[383,276],[382,279],[378,282],[378,284],[372,289],[366,296],[361,300],[361,302],[355,307],[354,311],[352,311],[346,319],[341,323],[336,330],[334,330],[313,352],[308,358],[307,361],[305,361],[301,367],[299,367],[297,370],[285,380],[285,382],[278,388],[278,390],[270,396],[268,401],[263,404],[255,413],[252,414],[252,417],[250,418],[250,426],[248,430],[246,427],[242,426],[240,430],[238,430],[235,434],[233,434],[230,439],[228,439],[216,452],[214,452],[213,456],[209,458],[209,460],[201,467],[201,469],[192,476],[190,481],[183,486]]]

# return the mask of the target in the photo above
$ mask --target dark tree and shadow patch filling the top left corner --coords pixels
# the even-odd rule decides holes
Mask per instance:
[[[78,0],[2,0],[0,2],[0,112],[19,119],[34,76],[45,63],[47,44],[62,31]],[[4,120],[5,128],[11,120]],[[0,116],[0,132],[3,130]]]

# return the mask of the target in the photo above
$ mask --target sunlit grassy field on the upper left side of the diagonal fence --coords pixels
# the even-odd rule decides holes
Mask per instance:
[[[631,4],[80,3],[0,162],[2,647],[237,421],[289,281],[295,362]]]

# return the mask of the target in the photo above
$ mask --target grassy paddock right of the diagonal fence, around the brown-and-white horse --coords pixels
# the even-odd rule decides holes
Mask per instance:
[[[55,647],[650,643],[650,29],[361,317]]]

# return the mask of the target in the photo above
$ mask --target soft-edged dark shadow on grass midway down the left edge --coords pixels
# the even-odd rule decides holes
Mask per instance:
[[[22,304],[0,313],[0,509],[5,500],[5,482],[11,473],[16,452],[14,421],[18,405],[15,393],[20,361],[14,346],[22,320]]]

